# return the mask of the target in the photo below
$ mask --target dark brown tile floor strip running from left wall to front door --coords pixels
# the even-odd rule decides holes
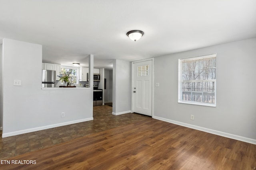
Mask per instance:
[[[108,105],[94,106],[93,117],[94,120],[92,121],[6,138],[2,138],[2,131],[0,131],[0,160],[51,147],[92,133],[151,119],[149,116],[137,113],[115,116],[112,115],[112,107]]]

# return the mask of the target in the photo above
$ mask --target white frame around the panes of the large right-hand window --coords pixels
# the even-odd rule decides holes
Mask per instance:
[[[202,56],[196,56],[196,57],[189,57],[189,58],[183,58],[183,59],[178,59],[178,103],[181,104],[192,104],[192,105],[198,105],[198,106],[210,106],[210,107],[216,107],[216,87],[217,87],[217,81],[215,79],[206,79],[206,80],[191,80],[191,82],[214,82],[214,103],[206,103],[206,102],[194,102],[194,101],[184,101],[182,99],[182,62],[183,61],[192,61],[192,60],[199,60],[199,59],[207,59],[207,58],[212,58],[216,57],[216,53],[214,54],[209,54],[209,55],[202,55]],[[216,57],[216,63],[217,65],[217,57]],[[217,66],[215,67],[216,73],[217,74]],[[188,80],[186,80],[188,81]],[[203,92],[202,92],[203,93]]]

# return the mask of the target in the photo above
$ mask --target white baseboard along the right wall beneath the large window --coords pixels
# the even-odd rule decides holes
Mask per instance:
[[[196,129],[196,130],[199,130],[199,131],[204,131],[204,132],[207,132],[207,133],[212,133],[214,135],[219,135],[219,136],[227,137],[227,138],[230,138],[230,139],[236,139],[238,141],[252,143],[252,144],[256,145],[256,139],[251,139],[251,138],[247,138],[247,137],[233,135],[233,134],[230,134],[230,133],[225,133],[225,132],[221,132],[221,131],[207,129],[207,128],[200,127],[200,126],[195,126],[195,125],[190,125],[190,124],[187,124],[187,123],[182,123],[182,122],[179,122],[179,121],[165,119],[165,118],[162,118],[162,117],[153,116],[152,118],[158,119],[158,120],[161,120],[161,121],[166,121],[168,123],[173,123],[173,124],[176,124],[176,125],[188,127],[188,128],[191,128],[191,129]]]

